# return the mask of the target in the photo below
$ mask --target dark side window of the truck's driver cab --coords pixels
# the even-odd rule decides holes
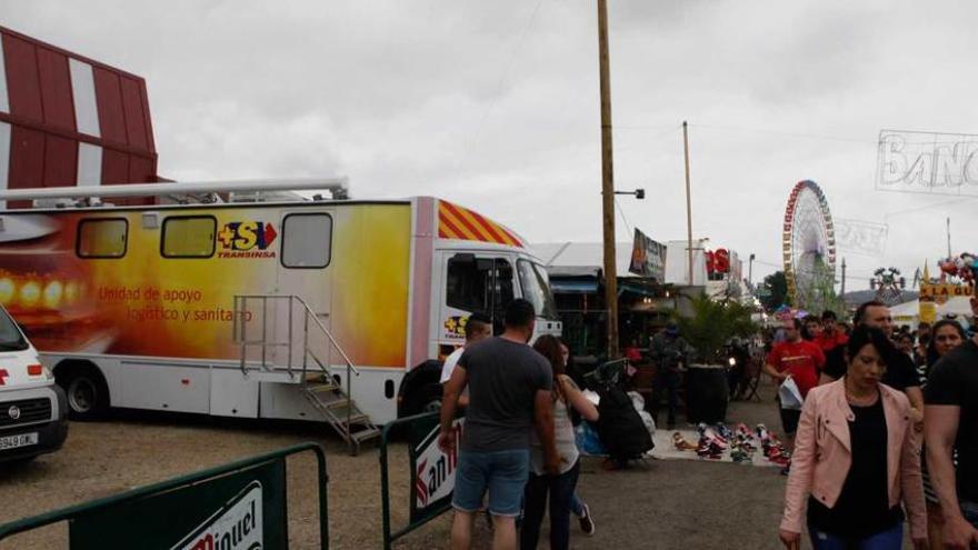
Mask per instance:
[[[449,258],[448,307],[502,319],[502,311],[512,298],[512,264],[509,261],[477,259],[470,253]]]

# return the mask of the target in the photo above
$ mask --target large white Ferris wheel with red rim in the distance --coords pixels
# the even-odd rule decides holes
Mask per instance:
[[[799,181],[785,211],[784,257],[788,297],[798,306],[820,303],[836,278],[836,234],[825,193],[810,180]]]

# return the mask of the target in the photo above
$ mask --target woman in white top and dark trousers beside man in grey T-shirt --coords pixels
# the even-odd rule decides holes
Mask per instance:
[[[545,334],[537,339],[533,349],[550,362],[553,369],[553,436],[557,452],[560,454],[560,473],[547,474],[543,469],[543,452],[536,434],[530,446],[530,479],[523,499],[523,522],[520,531],[520,548],[537,548],[540,538],[540,523],[547,496],[550,496],[550,548],[568,548],[570,539],[570,506],[580,472],[580,453],[573,437],[570,411],[577,410],[586,420],[598,420],[598,409],[587,400],[577,384],[565,372],[567,360],[561,353],[560,340]]]

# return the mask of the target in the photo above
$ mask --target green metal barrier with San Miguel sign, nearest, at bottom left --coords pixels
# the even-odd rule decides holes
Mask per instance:
[[[288,548],[286,457],[316,453],[320,548],[329,548],[326,454],[300,443],[0,526],[0,541],[68,521],[69,548]]]

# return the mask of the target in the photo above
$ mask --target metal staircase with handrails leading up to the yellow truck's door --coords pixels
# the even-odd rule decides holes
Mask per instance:
[[[297,316],[301,326],[298,330]],[[252,322],[256,317],[260,317],[260,322]],[[329,364],[313,351],[309,340],[310,321],[313,330],[326,337],[325,343],[335,349],[346,363],[346,388],[340,377],[331,373]],[[249,324],[259,327],[249,330]],[[279,324],[286,326],[283,340],[276,339]],[[360,371],[302,298],[281,294],[236,296],[233,326],[234,343],[241,346],[241,372],[246,377],[300,384],[306,399],[347,442],[350,454],[358,454],[362,443],[380,436],[380,429],[350,398],[353,377],[359,377]],[[253,334],[256,330],[260,330],[260,333]],[[299,347],[302,350],[301,360],[293,361]],[[260,349],[259,360],[248,360],[250,348]]]

